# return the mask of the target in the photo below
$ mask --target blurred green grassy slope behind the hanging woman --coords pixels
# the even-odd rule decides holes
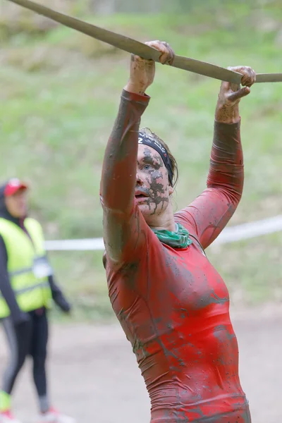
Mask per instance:
[[[177,54],[219,66],[245,64],[281,72],[282,10],[238,3],[189,15],[116,15],[87,20],[141,41],[164,39]],[[1,30],[1,27],[0,27]],[[1,32],[0,32],[1,35]],[[32,214],[48,239],[102,236],[99,179],[107,137],[128,79],[129,56],[58,27],[44,35],[2,37],[1,179],[32,185]],[[157,65],[142,118],[178,159],[176,209],[205,187],[219,81]],[[241,102],[245,190],[231,224],[282,212],[282,83],[257,84]],[[281,300],[281,233],[210,248],[233,301]],[[111,307],[102,252],[51,253],[78,317],[106,317]]]

